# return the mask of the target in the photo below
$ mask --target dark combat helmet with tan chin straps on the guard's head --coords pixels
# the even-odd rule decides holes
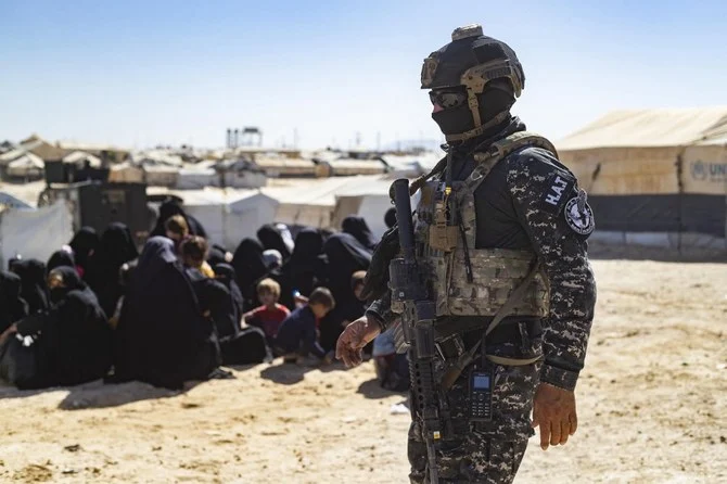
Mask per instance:
[[[421,72],[422,89],[446,89],[463,87],[467,91],[474,129],[458,136],[448,136],[456,141],[481,135],[498,119],[481,118],[480,101],[487,85],[495,79],[509,80],[515,98],[525,86],[525,73],[515,52],[505,42],[483,35],[479,24],[455,29],[451,42],[424,60]],[[490,85],[489,87],[498,87]]]

